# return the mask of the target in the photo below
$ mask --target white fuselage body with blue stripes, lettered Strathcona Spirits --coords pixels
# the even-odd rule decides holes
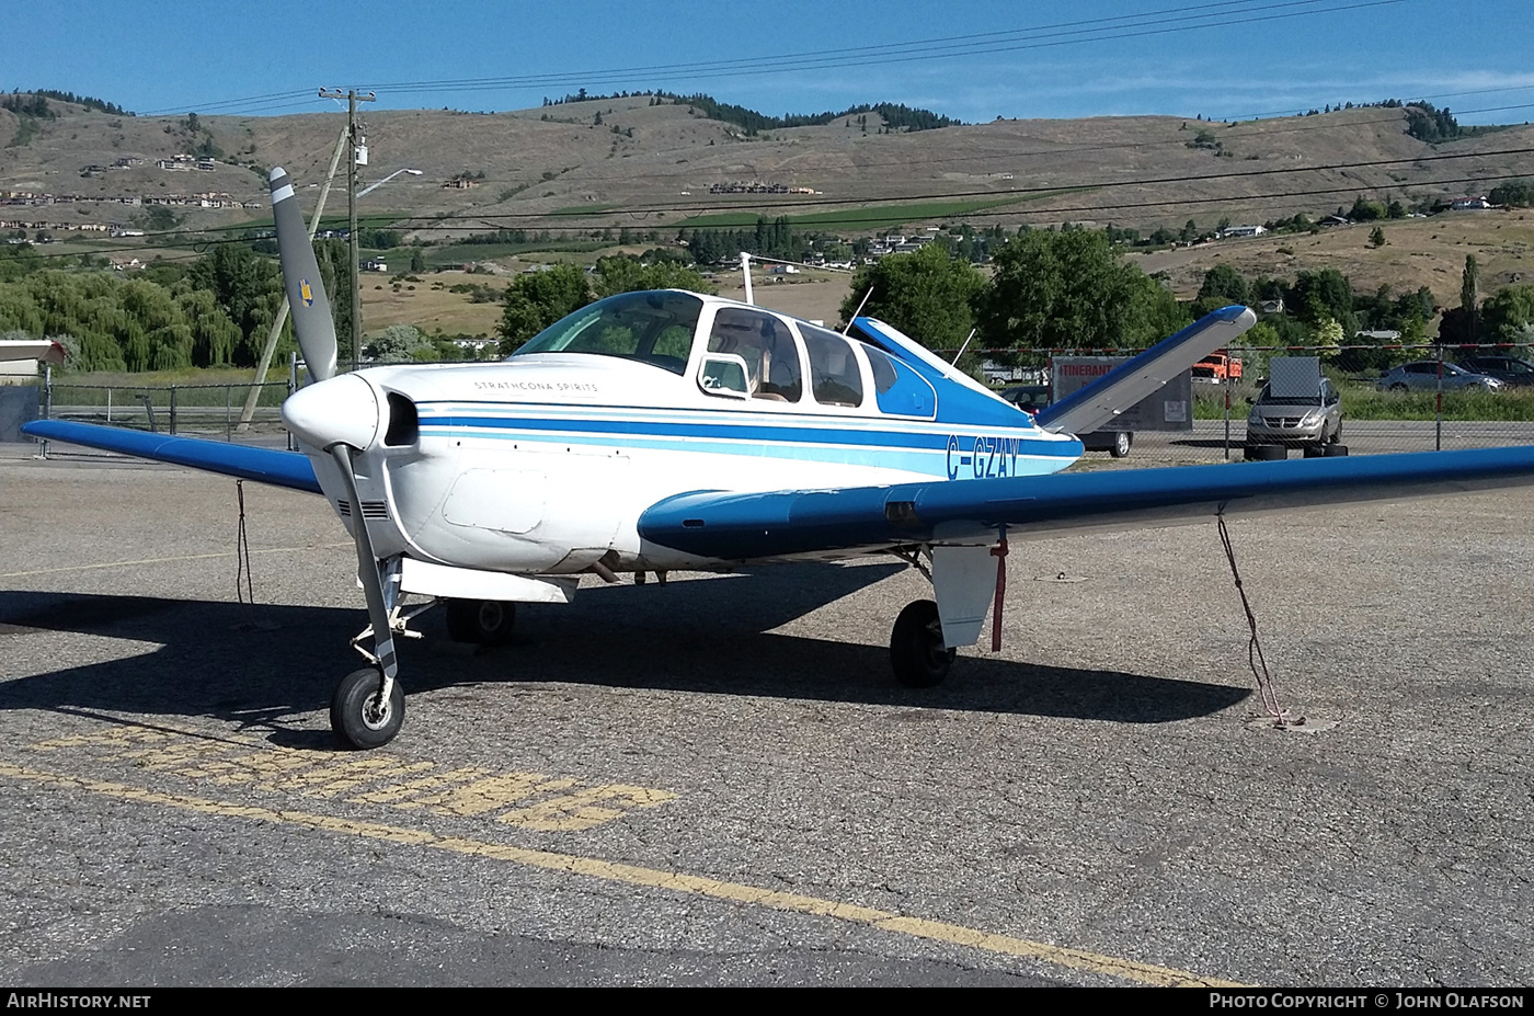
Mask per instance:
[[[334,434],[330,444],[360,450],[357,491],[380,559],[523,576],[597,562],[612,571],[718,565],[640,537],[640,514],[673,494],[1043,474],[1080,454],[1075,439],[1042,431],[1000,399],[985,413],[994,422],[943,419],[942,388],[953,384],[943,378],[922,382],[933,388],[925,413],[881,411],[867,353],[856,358],[870,393],[861,407],[819,404],[808,391],[796,402],[721,397],[701,381],[700,358],[695,350],[681,374],[592,353],[376,367],[299,391],[284,417],[348,528],[345,485],[319,444]]]

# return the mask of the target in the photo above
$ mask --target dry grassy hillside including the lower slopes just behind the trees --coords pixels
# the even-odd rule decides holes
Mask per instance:
[[[270,221],[267,167],[285,166],[302,200],[313,204],[345,120],[341,114],[305,114],[201,117],[192,123],[187,117],[126,117],[49,103],[55,115],[48,120],[0,109],[0,192],[81,200],[0,206],[0,219],[143,226],[149,215],[144,200],[212,192],[253,207],[170,206],[178,230],[264,227]],[[1296,212],[1318,218],[1351,206],[1359,195],[1411,204],[1479,193],[1491,186],[1483,181],[1496,178],[1534,175],[1526,157],[1497,155],[1534,146],[1534,127],[1433,146],[1407,135],[1401,109],[1230,124],[1178,117],[999,120],[910,134],[879,134],[882,123],[870,114],[867,132],[858,117],[848,117],[755,135],[709,120],[684,101],[652,106],[643,95],[506,114],[364,112],[371,155],[364,183],[402,167],[422,175],[393,180],[362,198],[359,210],[374,226],[400,229],[407,241],[434,244],[423,252],[428,267],[491,259],[512,267],[551,247],[591,259],[615,244],[591,238],[592,232],[653,232],[660,239],[647,242],[667,242],[683,226],[750,224],[758,215],[787,216],[795,229],[845,236],[951,223],[1011,232],[1025,223],[1066,221],[1147,235],[1158,227],[1181,230],[1190,219],[1210,229],[1221,219],[1262,223]],[[23,121],[31,126],[23,129]],[[221,152],[222,161],[209,170],[155,166],[155,160],[198,149]],[[1453,155],[1468,158],[1443,158]],[[114,169],[118,160],[132,164]],[[474,186],[445,186],[453,180]],[[715,184],[752,181],[813,193],[710,193]],[[344,212],[345,195],[337,189],[327,224],[339,224]],[[499,229],[526,230],[529,238],[520,244],[445,246]],[[1480,261],[1482,293],[1534,279],[1534,218],[1523,212],[1388,221],[1387,242],[1379,249],[1368,244],[1370,229],[1221,241],[1135,258],[1146,272],[1164,272],[1183,298],[1220,262],[1249,278],[1293,278],[1304,269],[1336,267],[1361,292],[1387,284],[1397,293],[1428,285],[1445,304],[1457,302],[1467,253]],[[542,238],[545,232],[548,238]],[[153,238],[55,235],[67,242],[44,250],[91,249],[124,259],[133,253],[146,259],[190,256],[193,242],[183,236],[179,246],[147,247],[146,253],[140,247]],[[124,247],[130,250],[118,253]],[[390,255],[391,266],[399,256]],[[472,335],[494,322],[492,308],[471,304],[462,293],[445,295],[430,284],[425,292],[397,293],[380,281],[370,285],[382,285],[365,292],[370,332],[410,321]],[[824,308],[836,289],[841,282],[798,284],[784,289],[784,298],[792,292],[788,302],[807,301],[810,316],[834,316]],[[420,308],[419,321],[411,307]]]

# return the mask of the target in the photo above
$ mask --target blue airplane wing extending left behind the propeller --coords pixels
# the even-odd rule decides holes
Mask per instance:
[[[72,424],[69,421],[32,421],[21,427],[21,433],[48,440],[66,440],[86,448],[120,451],[155,462],[187,465],[195,470],[238,476],[275,487],[321,493],[319,480],[314,479],[314,467],[310,465],[308,456],[298,451],[252,448],[250,445],[202,437],[167,437],[126,427]]]

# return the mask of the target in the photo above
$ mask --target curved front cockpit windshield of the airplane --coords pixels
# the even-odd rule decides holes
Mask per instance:
[[[701,313],[703,301],[690,293],[620,293],[560,318],[512,356],[594,353],[683,374]]]

